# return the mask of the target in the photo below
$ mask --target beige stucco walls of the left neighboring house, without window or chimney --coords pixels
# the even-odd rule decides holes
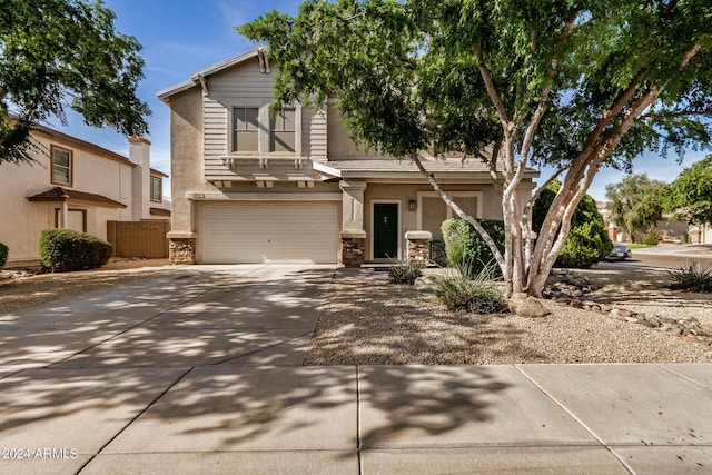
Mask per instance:
[[[9,264],[39,258],[39,238],[43,229],[55,227],[55,209],[60,202],[32,202],[28,196],[56,186],[102,195],[125,205],[130,204],[132,167],[87,151],[76,144],[36,133],[34,139],[47,155],[37,154],[36,162],[0,164],[0,241],[9,249]],[[50,145],[72,152],[72,186],[51,184]],[[71,209],[87,211],[87,232],[106,239],[107,220],[128,220],[130,210],[70,204]]]

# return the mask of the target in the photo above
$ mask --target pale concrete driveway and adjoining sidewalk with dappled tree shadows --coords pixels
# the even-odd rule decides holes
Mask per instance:
[[[196,267],[0,316],[0,473],[712,471],[712,365],[300,366],[332,275]]]

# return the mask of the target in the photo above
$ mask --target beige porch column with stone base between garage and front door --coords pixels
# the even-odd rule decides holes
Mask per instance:
[[[364,191],[366,181],[340,181],[342,198],[342,253],[340,263],[346,267],[364,264],[366,231],[364,230]]]

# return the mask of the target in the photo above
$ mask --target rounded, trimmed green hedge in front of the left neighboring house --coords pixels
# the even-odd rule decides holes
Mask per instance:
[[[40,236],[40,264],[53,273],[101,267],[112,251],[106,240],[71,229],[46,229]]]

